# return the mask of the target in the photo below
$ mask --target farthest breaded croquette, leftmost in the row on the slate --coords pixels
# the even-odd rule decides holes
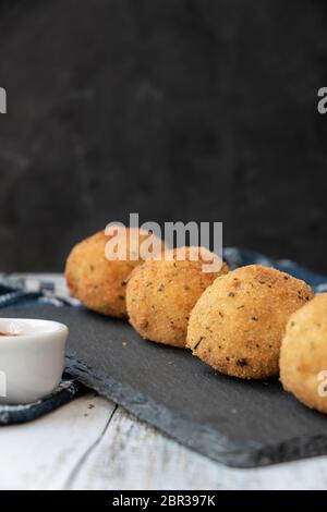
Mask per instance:
[[[75,245],[66,261],[65,278],[71,295],[86,307],[107,316],[123,318],[126,317],[126,279],[133,268],[143,263],[140,256],[142,242],[152,235],[157,247],[164,249],[165,245],[152,233],[126,228],[126,237],[120,240],[120,248],[125,249],[122,251],[122,259],[109,260],[105,254],[107,244],[113,241],[120,229],[118,227],[110,234],[100,231]]]

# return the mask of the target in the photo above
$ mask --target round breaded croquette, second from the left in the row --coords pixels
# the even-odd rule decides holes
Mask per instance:
[[[197,260],[191,260],[195,253],[199,253]],[[181,247],[167,252],[160,261],[148,260],[133,270],[126,288],[128,313],[144,339],[185,346],[194,304],[217,276],[229,270],[219,260],[216,271],[203,271],[204,263],[216,255],[206,249],[203,253],[203,248]]]

